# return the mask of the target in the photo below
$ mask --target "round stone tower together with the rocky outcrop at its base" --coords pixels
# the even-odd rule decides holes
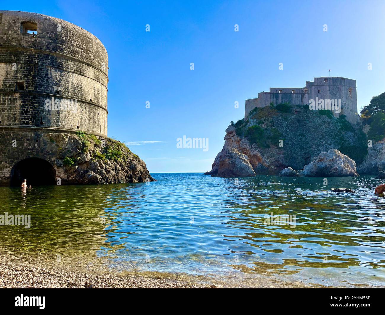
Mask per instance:
[[[152,180],[107,138],[107,83],[97,37],[59,18],[1,10],[0,185]]]

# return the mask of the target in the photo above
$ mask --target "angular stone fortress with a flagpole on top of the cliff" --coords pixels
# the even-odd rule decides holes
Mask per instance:
[[[306,105],[310,100],[341,100],[341,112],[333,111],[335,117],[346,116],[351,123],[359,121],[357,114],[356,81],[343,77],[319,77],[314,81],[306,81],[301,88],[270,88],[269,92],[258,93],[258,98],[246,100],[244,117],[256,107],[265,107],[289,103],[291,105]]]

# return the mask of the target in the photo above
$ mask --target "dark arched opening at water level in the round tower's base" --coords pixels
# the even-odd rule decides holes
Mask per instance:
[[[26,158],[17,162],[11,170],[11,186],[20,186],[24,179],[27,185],[54,185],[56,171],[52,165],[42,158]]]

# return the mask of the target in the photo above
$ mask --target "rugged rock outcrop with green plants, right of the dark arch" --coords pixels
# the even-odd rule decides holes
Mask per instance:
[[[47,133],[57,173],[64,184],[107,184],[154,181],[146,163],[123,143],[83,132]]]

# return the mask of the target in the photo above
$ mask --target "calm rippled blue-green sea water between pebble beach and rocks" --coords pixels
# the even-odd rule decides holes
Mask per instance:
[[[234,179],[152,174],[157,182],[0,187],[0,226],[15,255],[96,255],[110,268],[191,275],[267,275],[323,285],[385,285],[385,198],[373,177]],[[355,194],[331,193],[346,187]],[[267,225],[266,215],[295,215]]]

